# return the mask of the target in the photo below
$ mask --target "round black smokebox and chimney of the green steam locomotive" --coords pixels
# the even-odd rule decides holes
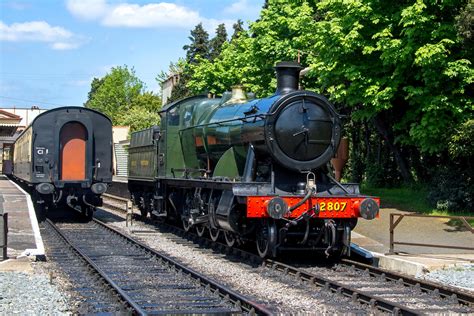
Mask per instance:
[[[298,65],[280,63],[276,70],[276,94],[281,97],[266,119],[266,146],[272,158],[288,169],[317,169],[337,150],[341,139],[339,115],[324,97],[297,90]]]

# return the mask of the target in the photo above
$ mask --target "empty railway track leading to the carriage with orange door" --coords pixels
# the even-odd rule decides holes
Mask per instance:
[[[90,303],[86,313],[272,313],[98,220],[88,223],[53,223],[48,220],[43,230],[48,231],[50,237],[56,236],[50,248],[51,258],[66,270],[75,266],[84,271],[80,278],[96,281],[94,286],[76,288]],[[66,273],[71,275],[72,270]]]

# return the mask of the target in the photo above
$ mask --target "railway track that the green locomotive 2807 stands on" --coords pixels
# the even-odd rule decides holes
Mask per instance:
[[[114,205],[116,210],[123,210],[116,202],[110,204]],[[258,262],[275,272],[292,276],[308,286],[322,287],[339,293],[372,309],[402,315],[473,312],[474,296],[468,291],[454,287],[419,280],[348,259],[342,259],[333,267],[315,267],[314,264],[294,266],[274,260],[262,260],[253,253],[203,239],[180,228],[162,223],[158,225],[190,242],[212,247],[225,254],[232,253],[242,260]]]

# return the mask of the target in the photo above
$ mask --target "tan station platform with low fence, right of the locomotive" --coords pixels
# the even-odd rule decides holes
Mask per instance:
[[[453,266],[474,265],[473,250],[395,244],[394,254],[391,254],[391,213],[410,214],[394,208],[381,208],[380,218],[359,219],[352,233],[352,242],[370,251],[375,265],[414,276]],[[404,217],[394,230],[394,241],[474,247],[474,234],[448,219]]]

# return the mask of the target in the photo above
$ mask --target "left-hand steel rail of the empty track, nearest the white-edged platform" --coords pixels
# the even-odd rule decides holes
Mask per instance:
[[[139,315],[147,315],[146,311],[142,309],[138,304],[134,302],[134,300],[125,293],[120,286],[117,285],[111,278],[107,276],[107,274],[102,271],[100,267],[98,267],[86,254],[84,254],[79,248],[74,246],[74,244],[67,238],[63,232],[50,220],[46,219],[46,223],[54,229],[54,231],[66,242],[66,244],[74,250],[82,259],[84,259],[99,275],[102,279],[104,279],[123,299],[123,301],[129,305],[129,307],[133,308],[134,311]]]

